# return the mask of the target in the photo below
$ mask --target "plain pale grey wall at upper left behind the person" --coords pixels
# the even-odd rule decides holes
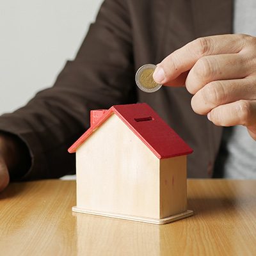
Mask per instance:
[[[102,0],[0,1],[0,114],[52,86]]]

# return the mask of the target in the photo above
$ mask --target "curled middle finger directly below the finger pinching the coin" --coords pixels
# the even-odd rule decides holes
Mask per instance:
[[[239,79],[250,75],[243,54],[221,54],[200,58],[186,79],[188,92],[195,94],[212,81]]]

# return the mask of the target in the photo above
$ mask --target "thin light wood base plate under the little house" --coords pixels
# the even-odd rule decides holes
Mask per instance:
[[[169,216],[167,218],[163,219],[153,219],[153,218],[144,218],[144,217],[139,217],[139,216],[130,216],[130,215],[122,215],[122,214],[112,214],[108,212],[97,212],[97,211],[89,211],[83,208],[79,207],[72,207],[72,211],[74,212],[81,212],[81,213],[86,213],[86,214],[93,214],[93,215],[98,215],[98,216],[104,216],[104,217],[111,217],[111,218],[118,218],[118,219],[123,219],[123,220],[132,220],[132,221],[140,221],[140,222],[145,222],[145,223],[152,223],[152,224],[166,224],[170,223],[176,220],[181,220],[183,218],[187,218],[191,215],[193,215],[193,211],[186,211],[182,212],[173,216]]]

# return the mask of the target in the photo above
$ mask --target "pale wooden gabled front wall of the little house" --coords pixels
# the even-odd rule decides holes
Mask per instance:
[[[99,128],[77,148],[77,205],[159,218],[159,159],[115,113]]]

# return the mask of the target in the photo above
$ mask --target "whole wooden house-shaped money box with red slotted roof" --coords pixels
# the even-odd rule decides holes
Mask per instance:
[[[147,104],[91,111],[76,152],[77,205],[72,210],[164,224],[187,209],[191,148]]]

